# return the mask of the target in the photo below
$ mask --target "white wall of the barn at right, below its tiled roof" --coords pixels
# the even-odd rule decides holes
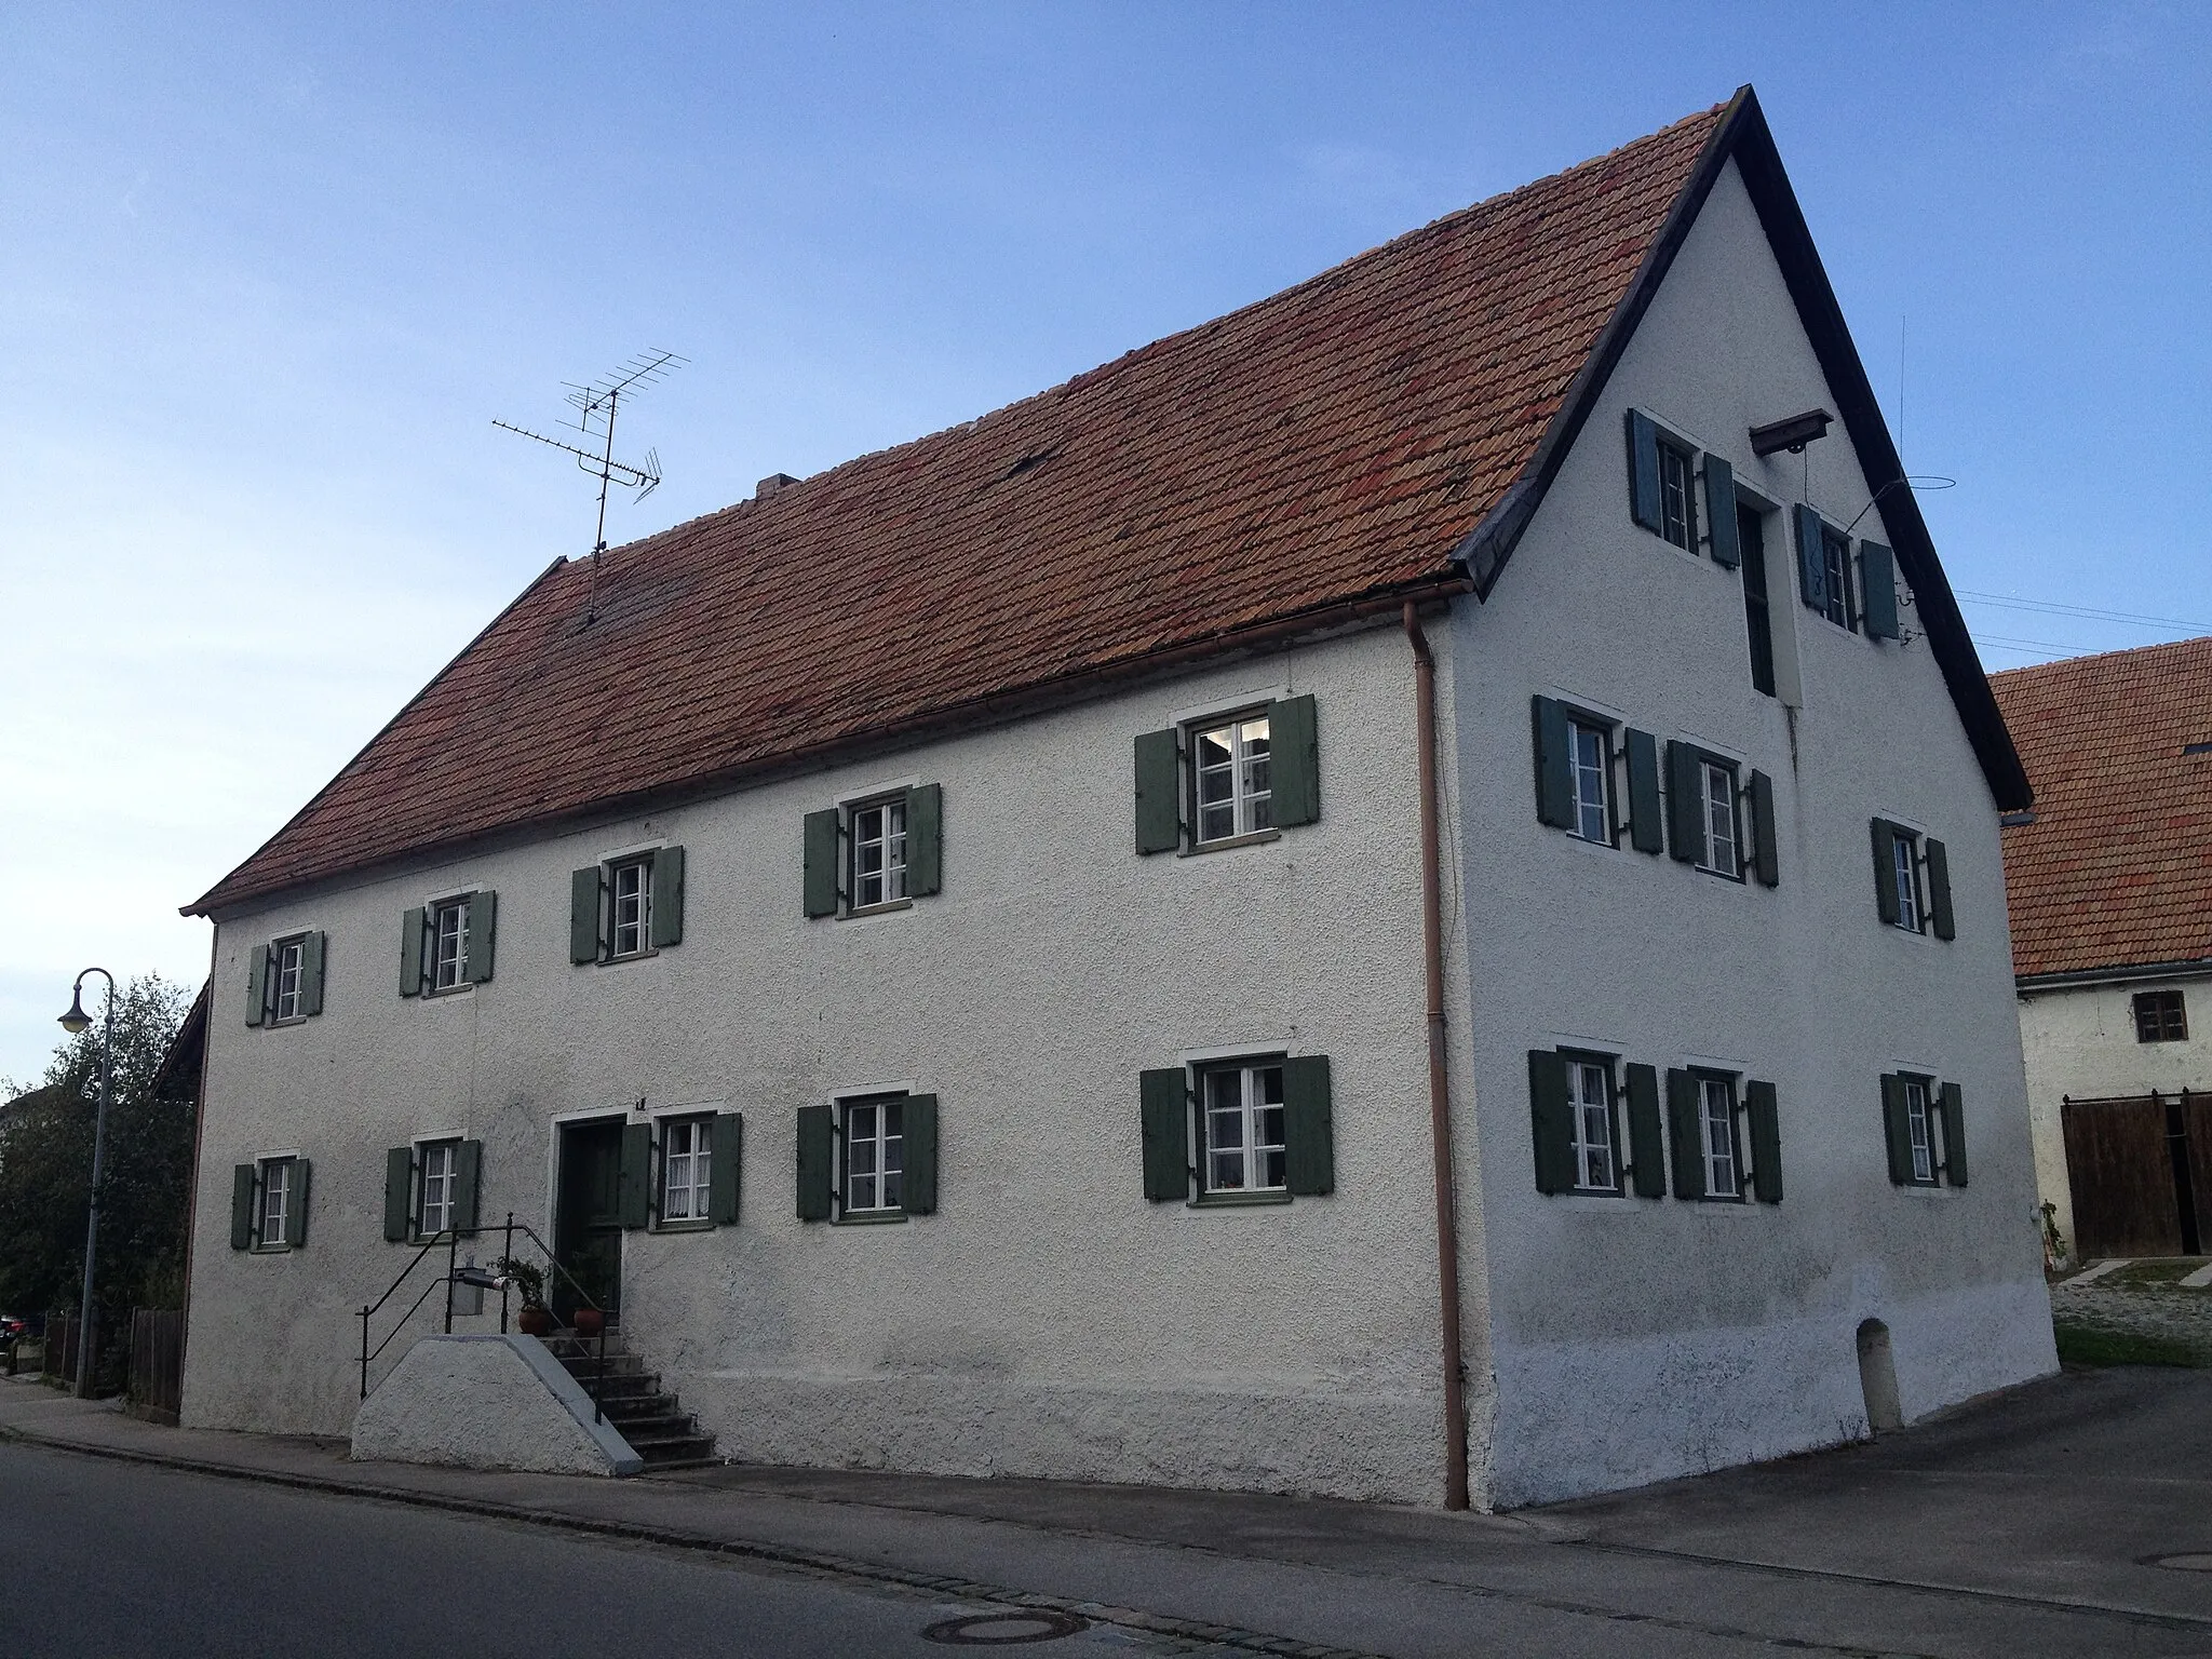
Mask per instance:
[[[2181,1042],[2137,1042],[2135,998],[2141,991],[2181,991],[2190,1035]],[[2212,975],[2022,991],[2020,1046],[2028,1064],[2035,1186],[2057,1206],[2059,1234],[2070,1248],[2073,1186],[2059,1108],[2068,1095],[2095,1099],[2212,1088]]]

